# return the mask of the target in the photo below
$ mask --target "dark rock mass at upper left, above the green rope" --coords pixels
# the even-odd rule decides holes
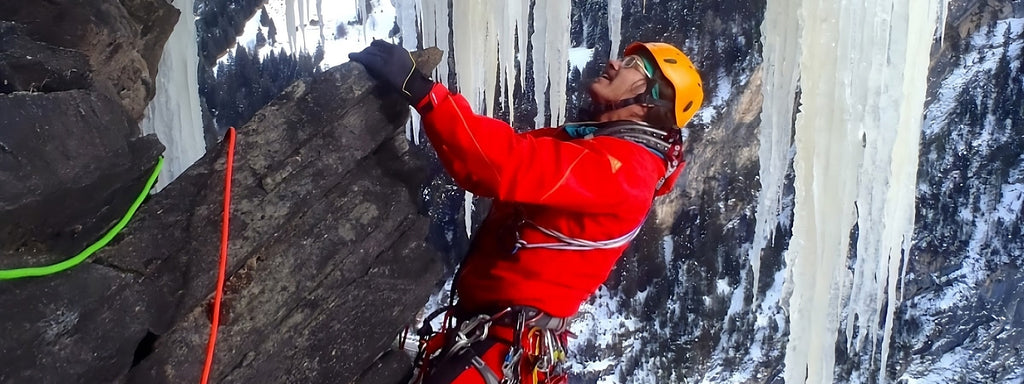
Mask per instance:
[[[137,121],[177,15],[162,0],[0,3],[0,267],[74,255],[139,194],[163,146]]]

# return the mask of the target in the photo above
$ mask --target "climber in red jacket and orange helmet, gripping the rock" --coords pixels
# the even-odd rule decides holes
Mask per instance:
[[[421,382],[567,382],[570,317],[683,168],[681,128],[703,98],[693,63],[633,43],[590,85],[592,121],[516,133],[401,47],[374,41],[349,57],[416,106],[456,183],[493,199],[455,278],[454,325],[421,333]]]

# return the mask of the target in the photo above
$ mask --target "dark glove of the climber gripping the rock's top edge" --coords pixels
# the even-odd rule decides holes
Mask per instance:
[[[416,69],[416,61],[406,48],[383,40],[374,40],[362,51],[349,53],[348,58],[361,63],[378,81],[401,91],[412,104],[423,100],[434,86],[433,81]]]

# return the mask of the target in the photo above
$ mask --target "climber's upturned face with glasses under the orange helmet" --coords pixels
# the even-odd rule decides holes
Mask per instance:
[[[597,103],[611,103],[632,98],[647,89],[643,61],[637,56],[608,60],[604,72],[590,85],[590,96]]]

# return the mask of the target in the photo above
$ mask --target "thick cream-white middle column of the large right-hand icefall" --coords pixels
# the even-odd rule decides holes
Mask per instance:
[[[855,221],[856,174],[862,147],[843,120],[849,90],[839,72],[850,48],[839,42],[840,4],[805,1],[801,83],[797,116],[796,201],[793,239],[785,261],[793,270],[785,381],[831,383],[849,233]],[[843,26],[845,27],[845,26]],[[839,84],[837,84],[839,83]]]

